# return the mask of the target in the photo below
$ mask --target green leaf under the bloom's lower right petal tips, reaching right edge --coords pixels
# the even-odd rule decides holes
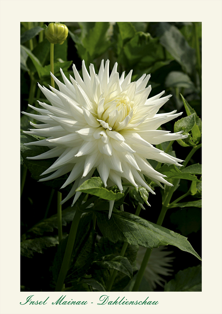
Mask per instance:
[[[192,166],[191,166],[192,167]],[[187,167],[189,168],[189,167]],[[197,179],[196,176],[193,176],[190,171],[195,171],[194,167],[191,168],[191,170],[188,169],[188,171],[186,171],[186,169],[183,169],[183,172],[180,171],[175,165],[164,165],[161,168],[158,169],[158,171],[162,174],[164,174],[165,176],[167,176],[167,179],[172,179],[172,178],[177,178],[177,179],[186,179],[186,180],[191,180],[191,181],[200,181]],[[193,170],[192,170],[193,169]],[[200,169],[198,168],[196,171],[200,171]]]

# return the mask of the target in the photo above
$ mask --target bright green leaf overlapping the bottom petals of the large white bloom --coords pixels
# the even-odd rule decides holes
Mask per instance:
[[[86,180],[80,185],[80,187],[76,189],[76,192],[77,191],[96,195],[108,201],[118,200],[124,196],[124,193],[114,193],[113,191],[107,190],[104,187],[102,180],[98,177],[93,177],[89,180]]]

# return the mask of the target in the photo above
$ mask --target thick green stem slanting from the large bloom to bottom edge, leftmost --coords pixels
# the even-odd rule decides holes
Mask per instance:
[[[79,210],[79,208],[77,208],[76,212],[75,212],[75,216],[74,216],[73,221],[72,221],[71,229],[69,232],[69,237],[68,237],[68,241],[67,241],[67,245],[66,245],[66,249],[65,249],[65,254],[64,254],[62,266],[61,266],[61,269],[60,269],[60,272],[58,275],[58,280],[57,280],[55,291],[62,291],[62,289],[63,289],[63,283],[65,280],[65,276],[68,272],[69,262],[70,262],[70,258],[72,255],[73,246],[75,243],[75,236],[76,236],[77,228],[78,228],[79,221],[81,218],[81,214],[82,214],[82,212]]]

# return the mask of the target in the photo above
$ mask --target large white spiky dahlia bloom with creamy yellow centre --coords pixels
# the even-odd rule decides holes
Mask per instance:
[[[153,159],[175,165],[182,161],[153,146],[186,138],[182,132],[157,130],[161,124],[182,114],[175,113],[176,111],[157,114],[171,95],[160,98],[164,94],[163,91],[147,99],[151,91],[150,85],[146,87],[150,75],[143,74],[136,82],[130,83],[132,70],[125,78],[125,72],[119,78],[115,63],[109,75],[109,60],[106,61],[105,68],[103,61],[101,62],[98,75],[93,64],[89,70],[90,74],[83,61],[82,80],[73,65],[75,79],[70,76],[71,82],[60,70],[65,84],[51,73],[59,90],[50,86],[50,91],[40,84],[39,87],[52,106],[39,101],[44,109],[29,106],[40,115],[23,112],[43,122],[30,122],[35,129],[25,133],[46,137],[26,145],[50,148],[39,156],[27,158],[58,157],[53,165],[42,173],[53,174],[39,181],[51,180],[70,172],[61,188],[74,181],[75,183],[62,203],[75,194],[73,204],[81,194],[75,190],[91,178],[96,169],[105,187],[117,185],[120,191],[123,191],[122,182],[130,182],[135,187],[145,187],[155,194],[143,175],[160,186],[161,183],[171,185],[164,179],[164,175],[154,170],[147,161]],[[112,207],[114,201],[111,202]]]

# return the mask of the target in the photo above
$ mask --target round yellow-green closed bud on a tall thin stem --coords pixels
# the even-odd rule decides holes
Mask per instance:
[[[68,36],[68,28],[65,24],[50,23],[45,30],[46,38],[51,44],[62,45]]]

